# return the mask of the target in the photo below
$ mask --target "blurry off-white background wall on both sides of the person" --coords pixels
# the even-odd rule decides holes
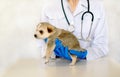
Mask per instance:
[[[33,35],[42,7],[48,1],[0,0],[0,74],[20,58],[40,57]],[[104,0],[109,26],[109,55],[120,62],[119,3],[120,0]]]

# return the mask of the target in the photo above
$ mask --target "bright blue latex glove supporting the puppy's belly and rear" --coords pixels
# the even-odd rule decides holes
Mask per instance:
[[[76,55],[80,59],[85,59],[87,55],[87,50],[85,51],[76,51],[76,50],[68,50],[68,47],[63,46],[62,42],[59,39],[55,40],[56,47],[54,49],[55,55],[63,57],[68,60],[72,60],[70,54]]]

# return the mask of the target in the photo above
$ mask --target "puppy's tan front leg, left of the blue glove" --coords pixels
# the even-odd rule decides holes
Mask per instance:
[[[47,64],[49,62],[49,59],[52,55],[52,52],[54,51],[55,48],[55,43],[54,41],[49,41],[47,44],[47,50],[46,50],[46,58],[45,58],[45,64]]]

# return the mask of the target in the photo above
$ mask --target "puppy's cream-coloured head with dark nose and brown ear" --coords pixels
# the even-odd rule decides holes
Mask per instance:
[[[47,22],[41,22],[37,25],[35,38],[45,39],[51,36],[55,32],[55,27]]]

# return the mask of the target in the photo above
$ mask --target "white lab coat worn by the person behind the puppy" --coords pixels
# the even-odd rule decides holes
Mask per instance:
[[[74,13],[71,13],[67,0],[63,0],[64,9],[68,20],[74,25],[75,31],[73,34],[78,37],[81,31],[81,15],[87,10],[87,0],[80,0]],[[105,24],[105,15],[101,2],[90,0],[90,11],[94,14],[94,22],[90,38],[91,42],[79,40],[81,47],[87,49],[87,60],[94,60],[107,55],[108,53],[108,38],[107,26]],[[42,11],[41,22],[49,22],[57,28],[68,29],[68,24],[64,17],[61,0],[53,0],[53,3],[46,6]],[[87,37],[90,29],[91,15],[85,15],[83,24],[83,37]],[[40,43],[41,53],[45,54],[45,46]]]

